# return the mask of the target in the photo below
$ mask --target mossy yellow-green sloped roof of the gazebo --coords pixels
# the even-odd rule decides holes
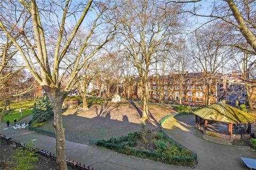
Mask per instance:
[[[222,102],[199,109],[198,111],[195,111],[194,114],[205,120],[223,123],[254,122],[254,117],[252,115]]]

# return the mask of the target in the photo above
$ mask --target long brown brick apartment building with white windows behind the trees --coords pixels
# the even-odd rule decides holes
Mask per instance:
[[[131,86],[130,91],[131,96],[141,96],[137,82]],[[208,75],[207,78],[204,73],[186,73],[182,75],[182,78],[178,74],[148,78],[148,98],[155,101],[161,98],[163,101],[177,103],[182,96],[183,104],[205,105],[208,94],[210,94],[211,104],[220,101],[225,95],[222,74],[214,75],[214,77]]]

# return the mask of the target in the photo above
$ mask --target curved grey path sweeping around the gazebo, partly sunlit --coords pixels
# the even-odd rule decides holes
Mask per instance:
[[[197,154],[195,169],[246,169],[241,157],[256,159],[250,148],[223,146],[202,139],[202,133],[194,128],[194,115],[170,116],[162,128],[170,138]]]

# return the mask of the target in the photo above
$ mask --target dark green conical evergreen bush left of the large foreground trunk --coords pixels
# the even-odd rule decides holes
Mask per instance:
[[[46,122],[53,116],[53,109],[46,96],[36,99],[32,110],[32,120],[37,123]]]

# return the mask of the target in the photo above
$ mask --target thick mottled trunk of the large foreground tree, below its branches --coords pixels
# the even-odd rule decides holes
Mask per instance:
[[[51,91],[47,93],[54,112],[53,126],[55,129],[56,139],[56,156],[57,156],[57,169],[68,170],[66,163],[66,146],[65,146],[65,129],[62,122],[62,104],[65,97],[58,95],[59,91]]]

